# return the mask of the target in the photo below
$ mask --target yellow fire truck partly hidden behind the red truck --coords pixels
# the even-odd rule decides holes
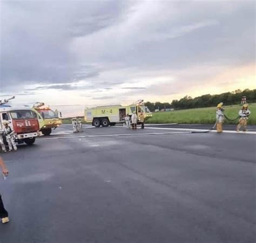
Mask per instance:
[[[50,109],[49,106],[45,106],[44,103],[35,103],[32,110],[37,113],[40,130],[44,135],[50,135],[52,128],[56,129],[62,124],[62,120],[59,119],[58,116],[58,111],[53,112],[53,110]]]

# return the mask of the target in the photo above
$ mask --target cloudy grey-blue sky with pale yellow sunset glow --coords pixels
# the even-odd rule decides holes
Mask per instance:
[[[254,1],[1,1],[0,96],[84,106],[255,85]]]

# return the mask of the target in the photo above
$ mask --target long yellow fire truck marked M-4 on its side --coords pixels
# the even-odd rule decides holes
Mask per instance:
[[[131,116],[133,112],[137,113],[138,119],[140,113],[143,112],[145,121],[152,117],[150,110],[144,106],[143,100],[140,100],[130,106],[114,105],[85,108],[84,120],[92,123],[92,126],[95,127],[108,127],[124,122],[126,114]],[[140,120],[138,120],[139,122]]]

